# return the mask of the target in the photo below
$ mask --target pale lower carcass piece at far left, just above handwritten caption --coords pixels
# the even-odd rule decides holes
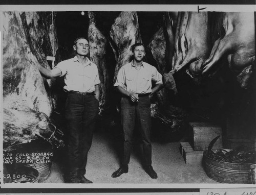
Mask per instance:
[[[63,145],[60,139],[63,133],[43,112],[36,112],[26,105],[16,108],[4,108],[3,111],[3,145],[4,150],[12,150],[14,145],[42,139],[54,147]]]

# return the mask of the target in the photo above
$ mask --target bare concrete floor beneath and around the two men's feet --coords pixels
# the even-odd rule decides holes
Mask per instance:
[[[152,161],[158,179],[151,179],[141,164],[140,144],[134,144],[129,164],[129,172],[119,178],[112,178],[112,173],[119,168],[120,137],[113,137],[109,132],[95,132],[88,155],[86,177],[93,183],[100,184],[214,184],[218,183],[205,174],[200,164],[185,164],[179,151],[179,142],[153,142]],[[182,141],[182,140],[181,140]],[[63,162],[65,149],[55,152],[51,174],[44,183],[64,183]],[[62,157],[62,158],[61,158]]]

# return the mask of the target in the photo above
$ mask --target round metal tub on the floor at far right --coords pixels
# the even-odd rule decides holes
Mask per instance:
[[[247,183],[251,184],[250,164],[238,164],[214,160],[203,155],[203,165],[207,176],[221,183]]]

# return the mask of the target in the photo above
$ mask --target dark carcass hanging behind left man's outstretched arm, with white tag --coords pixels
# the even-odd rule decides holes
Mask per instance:
[[[23,12],[20,14],[23,21],[24,32],[30,50],[36,57],[38,63],[51,69],[54,67],[55,55],[58,49],[55,18],[56,12]],[[48,64],[48,57],[52,61]],[[45,79],[44,84],[47,92],[52,97],[52,102],[56,108],[57,86],[56,79]]]

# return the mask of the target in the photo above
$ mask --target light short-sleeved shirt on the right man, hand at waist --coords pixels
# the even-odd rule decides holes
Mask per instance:
[[[122,66],[117,74],[114,86],[120,86],[127,91],[138,94],[151,93],[152,83],[162,84],[162,75],[156,67],[143,62],[140,67],[133,65],[133,61]]]

